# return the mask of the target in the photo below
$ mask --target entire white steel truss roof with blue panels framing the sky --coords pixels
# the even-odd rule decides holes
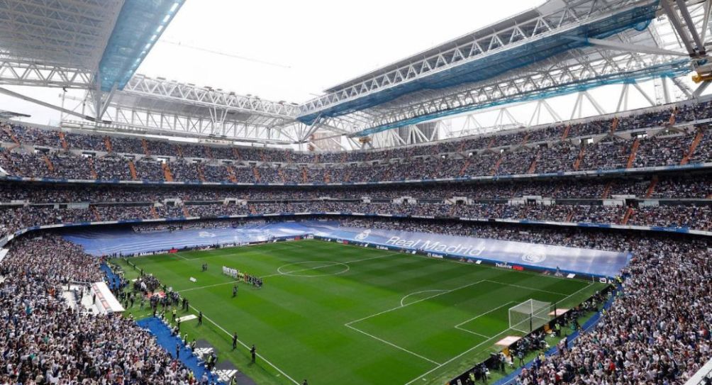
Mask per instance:
[[[612,83],[667,78],[687,97],[709,83],[693,93],[679,82],[706,65],[712,6],[701,0],[548,0],[303,105],[135,75],[183,1],[1,2],[0,84],[84,89],[94,118],[43,105],[107,126],[289,143],[316,132],[373,135]]]

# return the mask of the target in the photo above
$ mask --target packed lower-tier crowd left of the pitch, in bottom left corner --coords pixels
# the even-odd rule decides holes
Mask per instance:
[[[197,382],[129,318],[68,305],[67,283],[102,279],[98,260],[80,246],[48,234],[22,238],[0,275],[0,384]]]

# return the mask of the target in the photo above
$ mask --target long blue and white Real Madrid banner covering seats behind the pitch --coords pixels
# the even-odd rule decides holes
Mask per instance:
[[[170,248],[266,242],[276,238],[316,236],[362,246],[409,250],[432,256],[493,263],[515,270],[560,270],[562,273],[614,277],[630,255],[606,250],[570,248],[490,238],[445,236],[435,233],[342,227],[338,221],[252,223],[229,228],[137,233],[130,228],[82,228],[65,238],[92,255],[132,255]]]

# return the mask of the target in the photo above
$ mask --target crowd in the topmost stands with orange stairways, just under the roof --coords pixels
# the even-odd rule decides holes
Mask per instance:
[[[15,149],[1,151],[0,167],[14,176],[55,179],[311,184],[671,166],[712,161],[712,134],[703,135],[692,152],[695,129],[664,130],[654,137],[642,135],[639,139],[615,134],[644,134],[646,129],[664,127],[671,121],[706,119],[712,114],[711,104],[427,145],[324,154],[263,147],[210,147],[2,125],[0,142],[29,147],[13,145]],[[589,144],[570,140],[574,137],[598,139]],[[79,155],[71,150],[95,153]],[[163,162],[167,162],[169,172],[164,171]],[[358,162],[355,167],[354,162]]]

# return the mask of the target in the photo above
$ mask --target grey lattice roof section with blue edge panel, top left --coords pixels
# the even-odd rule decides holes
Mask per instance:
[[[120,90],[183,1],[2,1],[0,83]]]

